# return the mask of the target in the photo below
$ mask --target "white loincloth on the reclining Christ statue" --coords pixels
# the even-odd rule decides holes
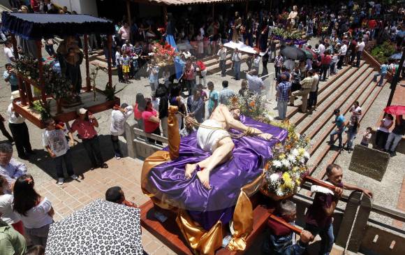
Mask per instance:
[[[207,119],[205,122],[202,122],[202,125],[216,128],[222,127],[221,124],[214,119]],[[230,135],[223,129],[207,129],[200,126],[197,131],[198,145],[200,145],[201,149],[205,152],[214,152],[218,142],[226,137],[230,137]]]

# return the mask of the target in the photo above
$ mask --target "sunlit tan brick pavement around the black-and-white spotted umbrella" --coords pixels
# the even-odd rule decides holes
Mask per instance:
[[[128,201],[138,205],[147,201],[147,196],[140,189],[142,161],[126,157],[120,160],[110,159],[107,163],[109,168],[89,170],[82,173],[77,181],[66,180],[66,183],[58,185],[52,180],[36,187],[41,196],[52,201],[55,221],[67,217],[96,198],[104,199],[105,191],[112,186],[121,187]],[[142,245],[147,254],[175,254],[145,228],[142,228]]]

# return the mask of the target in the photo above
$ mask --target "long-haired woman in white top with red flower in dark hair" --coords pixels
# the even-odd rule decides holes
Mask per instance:
[[[14,212],[19,214],[24,230],[33,245],[45,247],[54,209],[47,198],[34,189],[34,178],[25,174],[14,183]]]

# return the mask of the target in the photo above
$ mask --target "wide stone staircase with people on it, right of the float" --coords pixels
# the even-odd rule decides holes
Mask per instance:
[[[361,61],[360,67],[344,66],[337,75],[331,76],[327,82],[320,82],[318,89],[318,105],[311,114],[299,111],[301,99],[295,100],[294,107],[288,107],[287,116],[295,124],[298,133],[311,138],[309,154],[310,174],[316,178],[323,178],[325,168],[334,163],[341,150],[327,144],[330,132],[335,129],[333,110],[339,108],[341,114],[348,119],[351,106],[359,101],[362,107],[362,117],[367,114],[371,104],[376,100],[382,87],[373,82],[374,68],[366,61]],[[384,83],[385,85],[385,83]],[[386,85],[385,85],[386,86]],[[343,145],[346,145],[343,136]]]

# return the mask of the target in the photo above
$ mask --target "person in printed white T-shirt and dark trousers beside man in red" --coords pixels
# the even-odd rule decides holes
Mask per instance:
[[[78,175],[73,172],[72,156],[69,146],[73,146],[74,140],[72,133],[64,129],[63,124],[56,124],[53,119],[45,119],[46,126],[43,131],[42,140],[43,146],[54,160],[57,171],[58,184],[64,184],[64,168],[62,166],[65,161],[66,171],[73,180],[78,179]],[[66,140],[66,135],[69,137],[69,143]]]

